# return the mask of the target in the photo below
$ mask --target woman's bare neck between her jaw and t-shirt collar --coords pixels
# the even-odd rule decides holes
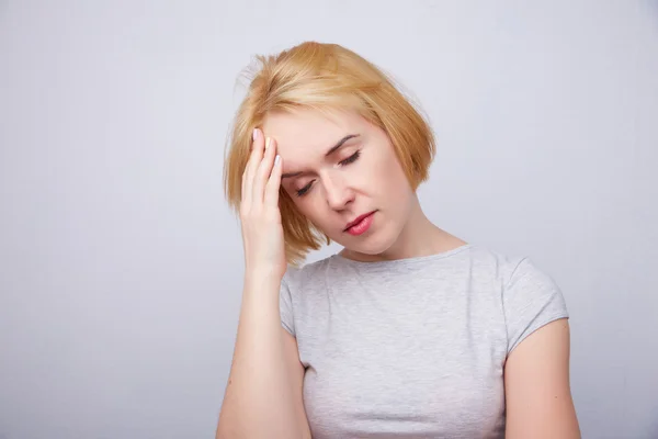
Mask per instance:
[[[415,196],[405,227],[386,251],[378,255],[363,255],[343,249],[341,254],[349,259],[374,262],[435,255],[465,244],[464,240],[435,226],[422,212],[418,196]]]

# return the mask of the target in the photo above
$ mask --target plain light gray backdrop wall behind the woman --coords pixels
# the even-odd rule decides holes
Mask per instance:
[[[585,437],[658,438],[658,2],[631,0],[0,1],[0,438],[213,437],[236,78],[308,38],[427,110],[436,224],[561,285]]]

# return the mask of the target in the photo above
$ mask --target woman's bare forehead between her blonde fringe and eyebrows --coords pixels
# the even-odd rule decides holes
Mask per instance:
[[[322,156],[348,134],[363,134],[368,123],[355,112],[297,110],[269,114],[263,123],[265,136],[276,140],[277,153],[286,159]]]

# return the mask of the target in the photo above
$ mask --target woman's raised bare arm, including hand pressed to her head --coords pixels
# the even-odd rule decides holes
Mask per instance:
[[[304,368],[295,339],[281,325],[286,270],[279,210],[282,165],[272,139],[268,146],[254,130],[240,201],[245,290],[217,439],[310,438],[302,399]]]

